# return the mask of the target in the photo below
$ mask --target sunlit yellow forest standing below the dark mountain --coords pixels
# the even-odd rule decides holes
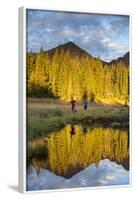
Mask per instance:
[[[120,61],[103,63],[100,58],[72,57],[69,52],[55,50],[50,58],[41,48],[27,53],[28,97],[57,97],[81,101],[129,101],[129,66]]]

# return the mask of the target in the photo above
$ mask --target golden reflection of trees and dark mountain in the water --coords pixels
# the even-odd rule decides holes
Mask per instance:
[[[46,169],[67,179],[91,164],[98,167],[104,159],[129,170],[128,146],[124,130],[67,125],[49,137],[28,141],[28,166],[33,166],[38,175]]]

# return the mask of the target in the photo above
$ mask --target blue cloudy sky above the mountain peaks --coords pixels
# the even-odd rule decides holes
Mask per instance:
[[[27,50],[38,52],[72,41],[110,61],[129,51],[129,17],[27,10]]]

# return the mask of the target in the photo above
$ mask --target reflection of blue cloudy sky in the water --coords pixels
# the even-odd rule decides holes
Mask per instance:
[[[129,172],[126,171],[122,165],[118,165],[108,159],[101,160],[98,168],[95,164],[91,164],[70,179],[56,176],[46,169],[41,169],[40,175],[37,176],[36,169],[33,166],[29,167],[28,174],[27,190],[129,184]]]

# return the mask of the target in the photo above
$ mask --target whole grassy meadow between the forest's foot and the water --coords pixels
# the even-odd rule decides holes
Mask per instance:
[[[83,110],[82,102],[76,105],[77,112],[71,111],[70,102],[58,99],[27,99],[27,136],[33,139],[63,128],[66,124],[85,126],[109,126],[128,128],[128,106],[89,103]]]

